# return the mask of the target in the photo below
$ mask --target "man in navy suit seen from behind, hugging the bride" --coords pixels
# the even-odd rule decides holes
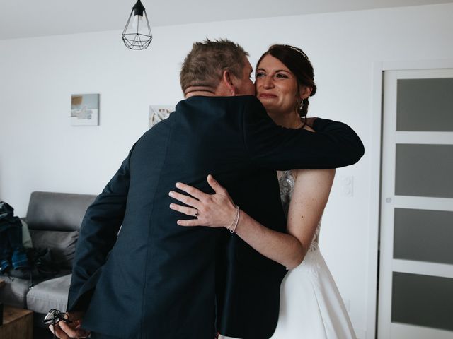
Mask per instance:
[[[185,100],[139,138],[86,212],[73,322],[60,322],[59,338],[86,335],[79,326],[92,338],[273,334],[285,268],[227,230],[178,226],[168,192],[176,182],[210,192],[213,174],[246,213],[282,231],[275,170],[351,165],[363,145],[339,122],[316,119],[317,133],[275,125],[253,96],[247,56],[228,40],[193,44],[180,73]]]

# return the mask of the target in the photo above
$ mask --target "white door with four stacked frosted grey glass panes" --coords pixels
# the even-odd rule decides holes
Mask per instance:
[[[377,339],[453,339],[450,64],[382,78]]]

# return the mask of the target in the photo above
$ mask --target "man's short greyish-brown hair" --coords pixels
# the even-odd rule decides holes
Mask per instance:
[[[216,89],[224,71],[241,78],[245,57],[248,53],[239,44],[226,39],[194,42],[180,71],[183,92],[191,86]]]

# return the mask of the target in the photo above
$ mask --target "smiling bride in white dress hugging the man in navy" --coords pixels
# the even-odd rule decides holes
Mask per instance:
[[[306,119],[306,112],[308,98],[316,93],[316,85],[311,62],[301,49],[271,46],[258,61],[255,86],[258,99],[276,124],[313,131],[307,124],[313,124],[314,119]],[[309,151],[309,145],[301,150]],[[273,339],[356,338],[340,292],[318,246],[321,216],[334,176],[334,169],[278,173],[282,206],[287,215],[287,234],[269,230],[240,212],[236,234],[260,254],[289,270],[280,289],[280,313]],[[216,194],[204,194],[185,184],[178,189],[197,198],[195,212],[198,215],[202,210],[197,225],[229,227],[236,215],[236,206],[228,192],[211,176],[208,182]],[[182,201],[181,196],[177,194],[173,198]],[[174,210],[194,215],[194,208],[188,210],[172,205]],[[222,335],[219,338],[231,339]]]

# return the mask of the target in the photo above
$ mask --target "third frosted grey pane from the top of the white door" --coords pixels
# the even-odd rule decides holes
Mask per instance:
[[[395,208],[395,259],[453,264],[452,242],[453,212]]]

